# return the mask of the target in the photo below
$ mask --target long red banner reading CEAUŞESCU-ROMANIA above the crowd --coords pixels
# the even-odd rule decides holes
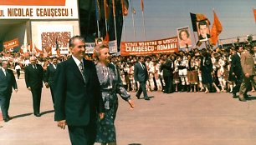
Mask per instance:
[[[146,42],[121,42],[120,55],[149,55],[178,52],[177,37]]]

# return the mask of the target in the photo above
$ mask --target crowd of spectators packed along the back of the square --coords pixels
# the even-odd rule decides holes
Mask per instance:
[[[248,48],[249,47],[249,48]],[[242,48],[242,50],[239,50]],[[236,86],[236,77],[233,75],[234,69],[232,66],[232,58],[236,60],[236,55],[243,53],[243,50],[249,49],[252,53],[256,51],[253,46],[236,46],[221,49],[217,47],[215,50],[195,48],[191,51],[179,51],[166,54],[154,54],[144,57],[146,69],[148,72],[148,80],[146,81],[147,91],[162,91],[170,92],[233,92],[233,87]],[[254,52],[252,53],[253,60],[256,63]],[[44,71],[54,60],[54,63],[67,60],[70,55],[62,57],[38,57],[37,61]],[[54,59],[53,59],[54,58]],[[121,57],[112,55],[110,62],[115,64],[120,70],[121,80],[128,92],[136,92],[140,85],[134,77],[134,66],[139,62],[141,57],[128,56]],[[206,58],[203,59],[203,58]],[[91,54],[86,54],[85,59],[96,62],[95,57]],[[29,57],[23,57],[19,53],[10,55],[3,54],[1,60],[8,60],[10,67],[17,72],[19,79],[20,72],[30,63]],[[206,76],[204,73],[205,66],[202,62],[206,62]],[[212,77],[212,78],[211,78]],[[208,80],[212,79],[212,80]],[[207,84],[211,82],[211,85]],[[237,82],[238,83],[238,82]],[[254,91],[251,87],[251,91]]]

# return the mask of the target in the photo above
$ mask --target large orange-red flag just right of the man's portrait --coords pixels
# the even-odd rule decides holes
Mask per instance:
[[[214,20],[212,24],[212,30],[211,30],[211,40],[212,45],[216,45],[218,42],[218,35],[223,31],[223,26],[218,20],[217,14],[213,11]]]

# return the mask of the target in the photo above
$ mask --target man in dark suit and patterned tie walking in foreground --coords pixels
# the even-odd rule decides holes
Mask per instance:
[[[97,113],[104,117],[95,63],[84,59],[85,42],[80,36],[71,37],[72,57],[58,64],[54,82],[54,120],[60,128],[68,125],[74,145],[93,145],[96,138]]]

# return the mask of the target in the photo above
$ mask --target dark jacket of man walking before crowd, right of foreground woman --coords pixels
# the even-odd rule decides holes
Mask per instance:
[[[145,69],[141,67],[141,64],[144,66]],[[148,80],[148,72],[146,69],[146,64],[144,62],[136,62],[134,64],[134,79],[138,82],[146,82]]]

